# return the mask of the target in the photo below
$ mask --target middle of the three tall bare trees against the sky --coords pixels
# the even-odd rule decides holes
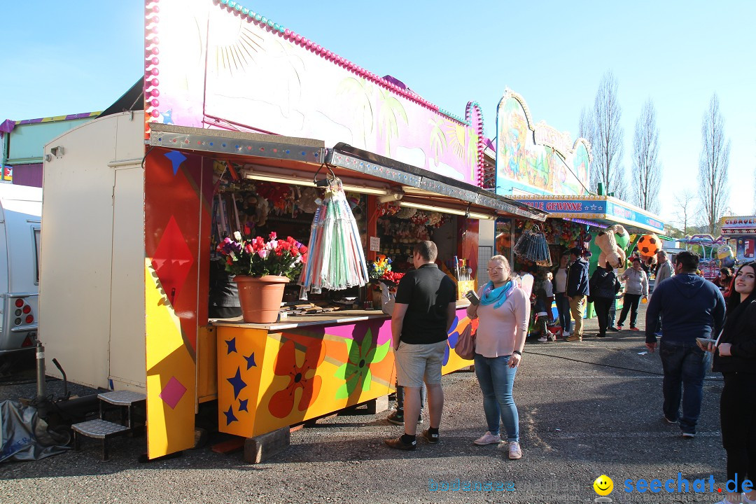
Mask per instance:
[[[656,108],[649,98],[643,104],[635,122],[633,138],[633,195],[637,206],[649,212],[658,212],[659,188],[662,186],[662,164],[658,159],[659,130],[656,125]]]

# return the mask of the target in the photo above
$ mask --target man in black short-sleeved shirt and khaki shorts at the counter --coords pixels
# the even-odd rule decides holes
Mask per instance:
[[[412,261],[415,270],[405,274],[396,291],[391,318],[396,375],[404,387],[404,418],[420,415],[420,388],[428,388],[430,428],[423,431],[429,443],[438,443],[438,425],[444,409],[441,368],[447,347],[448,330],[457,314],[457,288],[435,265],[435,243],[418,243]],[[386,439],[389,447],[414,450],[417,424],[404,422],[404,435]]]

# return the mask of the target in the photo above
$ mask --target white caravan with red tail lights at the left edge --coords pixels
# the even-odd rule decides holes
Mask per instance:
[[[0,184],[0,357],[36,344],[42,189]]]

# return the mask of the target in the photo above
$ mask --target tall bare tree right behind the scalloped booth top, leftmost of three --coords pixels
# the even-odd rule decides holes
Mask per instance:
[[[617,81],[611,71],[604,74],[593,101],[593,166],[590,183],[599,182],[606,192],[614,192],[618,198],[624,193],[624,166],[622,165],[622,144],[624,131],[620,126],[622,109],[617,99]]]

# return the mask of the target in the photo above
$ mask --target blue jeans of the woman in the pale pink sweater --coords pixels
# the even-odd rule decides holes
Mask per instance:
[[[483,411],[488,431],[499,433],[499,419],[507,431],[507,441],[519,442],[519,414],[512,397],[517,368],[507,364],[509,355],[483,357],[475,354],[475,374],[483,392]]]

